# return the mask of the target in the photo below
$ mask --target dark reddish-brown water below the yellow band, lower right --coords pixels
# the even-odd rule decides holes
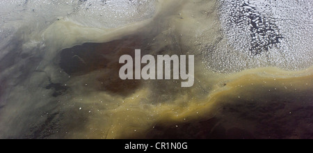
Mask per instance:
[[[258,88],[258,87],[257,87]],[[267,91],[267,90],[266,90]],[[264,91],[264,92],[266,92]],[[241,91],[243,92],[243,91]],[[216,117],[183,123],[157,123],[147,137],[186,139],[286,139],[313,137],[312,88],[301,92],[260,94],[262,90],[249,89],[255,94],[241,99],[225,95],[216,109]],[[295,95],[296,94],[296,95]]]

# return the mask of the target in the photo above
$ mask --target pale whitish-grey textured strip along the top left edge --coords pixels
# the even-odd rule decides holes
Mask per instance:
[[[154,0],[4,0],[0,2],[1,26],[24,19],[53,22],[69,17],[86,26],[116,27],[154,14]]]

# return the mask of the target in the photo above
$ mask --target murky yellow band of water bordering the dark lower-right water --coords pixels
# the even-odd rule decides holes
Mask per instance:
[[[216,74],[201,69],[196,71],[198,83],[193,88],[177,91],[164,84],[162,90],[174,97],[169,99],[162,99],[162,95],[154,96],[156,82],[145,83],[128,97],[90,92],[81,96],[81,102],[77,102],[79,97],[69,99],[69,103],[76,107],[68,113],[82,113],[86,122],[83,122],[83,128],[68,132],[65,138],[146,138],[146,134],[153,133],[156,124],[174,126],[214,117],[233,118],[233,122],[226,123],[231,128],[238,119],[234,118],[235,115],[221,114],[221,107],[227,104],[255,102],[263,105],[285,99],[296,105],[310,106],[312,94],[307,93],[313,88],[312,68],[289,72],[264,67],[235,74]],[[167,84],[172,86],[172,83]],[[83,109],[79,111],[78,106]]]

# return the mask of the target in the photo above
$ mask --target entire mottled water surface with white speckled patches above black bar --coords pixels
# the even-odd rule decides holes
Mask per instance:
[[[0,138],[313,138],[310,1],[103,2],[0,2]],[[122,81],[135,49],[195,55],[194,86]]]

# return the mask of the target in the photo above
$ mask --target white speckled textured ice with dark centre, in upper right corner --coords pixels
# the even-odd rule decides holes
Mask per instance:
[[[312,65],[313,3],[310,0],[220,0],[224,39],[206,51],[217,72],[277,66],[300,70]]]

